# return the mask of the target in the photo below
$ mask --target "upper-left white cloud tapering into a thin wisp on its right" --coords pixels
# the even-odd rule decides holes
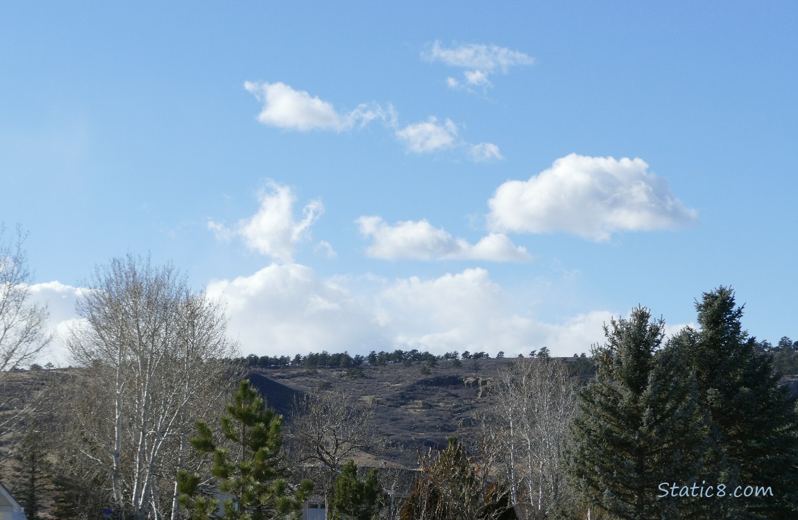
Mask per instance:
[[[356,125],[385,119],[389,112],[377,104],[360,104],[351,112],[338,112],[333,104],[311,97],[304,90],[295,90],[282,82],[246,81],[244,88],[263,101],[258,120],[269,126],[289,130],[333,130],[343,132]]]

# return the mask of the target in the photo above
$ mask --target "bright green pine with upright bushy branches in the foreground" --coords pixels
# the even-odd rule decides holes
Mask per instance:
[[[223,441],[217,443],[211,427],[197,423],[197,435],[191,440],[199,454],[213,457],[209,484],[199,475],[180,471],[178,490],[180,506],[192,520],[265,520],[297,518],[302,501],[313,489],[303,481],[290,493],[286,468],[282,466],[282,417],[267,408],[247,380],[239,383],[227,414],[221,418]],[[227,446],[232,446],[229,450]],[[219,498],[215,491],[229,497],[222,502],[223,513],[216,513]]]

